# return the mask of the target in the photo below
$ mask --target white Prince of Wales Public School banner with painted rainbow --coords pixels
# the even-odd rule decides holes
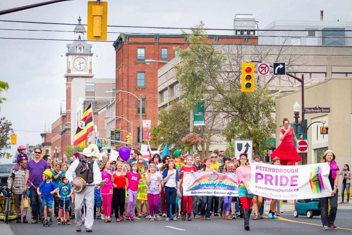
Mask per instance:
[[[235,173],[185,172],[183,195],[237,197],[237,176]]]

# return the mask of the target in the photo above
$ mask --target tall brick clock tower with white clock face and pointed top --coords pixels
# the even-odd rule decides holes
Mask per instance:
[[[62,146],[71,145],[71,109],[76,104],[76,100],[72,100],[71,83],[74,79],[92,79],[92,45],[84,40],[85,28],[81,24],[81,18],[78,17],[78,24],[73,30],[74,41],[67,44],[67,63],[66,63],[66,112],[61,113],[63,116],[63,126],[61,129]]]

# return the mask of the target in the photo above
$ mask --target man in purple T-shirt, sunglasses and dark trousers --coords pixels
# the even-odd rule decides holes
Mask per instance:
[[[38,219],[40,219],[38,215],[38,211],[40,215],[43,216],[44,208],[43,202],[38,195],[36,188],[43,181],[42,175],[45,170],[49,170],[49,166],[47,161],[40,159],[41,155],[41,147],[36,146],[34,148],[34,159],[29,161],[26,166],[26,176],[24,178],[24,191],[27,190],[28,181],[32,183],[34,187],[30,187],[30,207],[32,208],[33,221],[32,223],[38,223]],[[38,208],[39,204],[39,208]]]

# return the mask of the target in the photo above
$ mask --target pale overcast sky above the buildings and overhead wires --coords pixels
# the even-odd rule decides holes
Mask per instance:
[[[1,0],[0,11],[46,2],[47,0]],[[237,13],[253,14],[264,28],[273,21],[352,21],[352,1],[267,0],[267,1],[190,1],[190,0],[108,0],[108,24],[127,26],[191,27],[201,20],[207,28],[233,28]],[[86,24],[87,1],[75,0],[1,15],[0,20]],[[60,38],[68,41],[0,39],[0,80],[9,83],[1,94],[7,98],[0,106],[0,116],[13,124],[18,144],[41,143],[40,133],[60,115],[65,100],[66,44],[74,40],[73,32],[9,31],[12,29],[73,30],[69,25],[24,24],[0,21],[0,37]],[[111,32],[180,33],[178,29],[138,29],[110,27]],[[209,34],[230,34],[208,31]],[[109,33],[114,41],[119,33]],[[114,78],[115,51],[112,43],[92,42],[95,78]],[[14,152],[14,148],[12,152]]]

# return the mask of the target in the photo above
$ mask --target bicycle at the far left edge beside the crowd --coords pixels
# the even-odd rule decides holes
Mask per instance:
[[[11,189],[6,186],[0,187],[0,189],[2,189],[3,193],[3,196],[0,197],[0,207],[3,209],[0,211],[0,221],[4,221],[4,223],[8,224],[9,221],[14,221],[17,219],[16,212],[11,209],[13,205],[15,205],[15,202]]]

